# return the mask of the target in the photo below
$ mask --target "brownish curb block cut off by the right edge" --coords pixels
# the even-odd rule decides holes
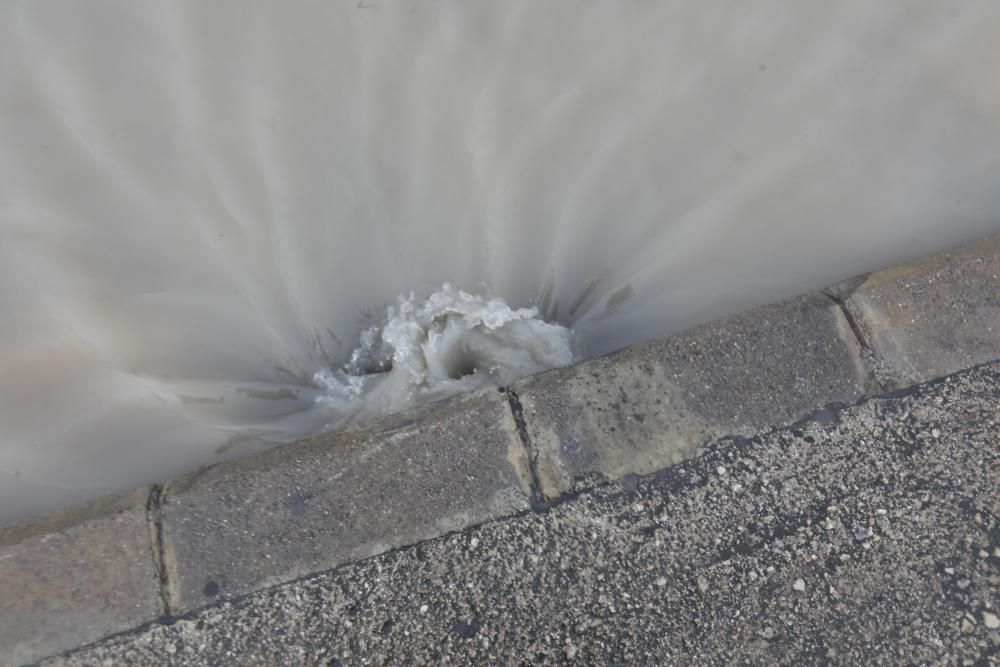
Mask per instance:
[[[1000,235],[840,290],[887,387],[1000,359]]]

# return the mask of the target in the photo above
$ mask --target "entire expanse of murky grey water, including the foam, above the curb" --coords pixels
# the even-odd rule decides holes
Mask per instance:
[[[996,231],[997,34],[993,0],[4,3],[0,522]]]

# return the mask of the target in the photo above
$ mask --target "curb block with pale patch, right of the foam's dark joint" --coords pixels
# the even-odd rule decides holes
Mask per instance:
[[[834,301],[813,294],[528,378],[522,406],[541,493],[616,479],[859,399],[866,368]]]

